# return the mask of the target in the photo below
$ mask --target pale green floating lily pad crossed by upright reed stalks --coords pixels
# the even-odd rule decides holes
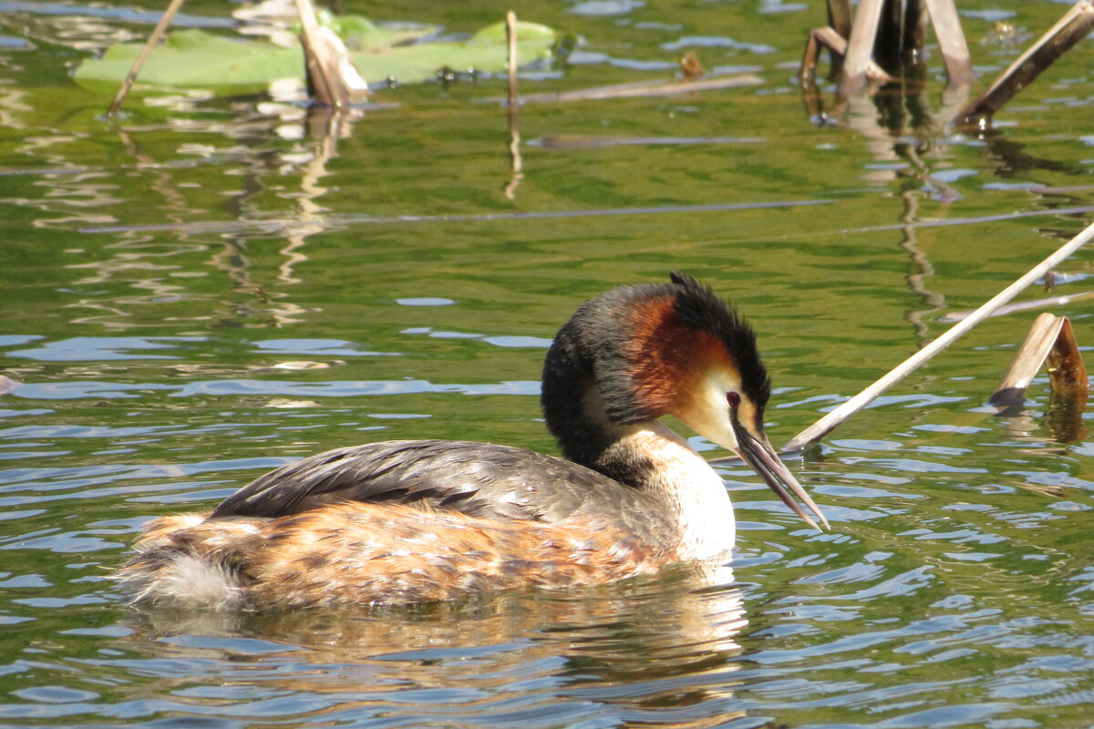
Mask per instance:
[[[363,19],[362,19],[363,20]],[[371,23],[369,24],[371,25]],[[375,28],[376,26],[372,26]],[[442,68],[496,73],[505,70],[507,43],[503,23],[482,28],[467,40],[439,40],[392,46],[389,34],[370,35],[359,23],[344,24],[354,66],[370,85],[395,79],[403,84],[421,83]],[[517,63],[524,66],[549,58],[558,34],[536,23],[517,24]],[[132,66],[143,44],[110,46],[102,58],[90,58],[77,67],[75,82],[90,91],[114,93]],[[138,77],[137,89],[205,90],[231,96],[266,91],[281,79],[304,78],[300,48],[238,40],[203,31],[177,31],[149,55]]]

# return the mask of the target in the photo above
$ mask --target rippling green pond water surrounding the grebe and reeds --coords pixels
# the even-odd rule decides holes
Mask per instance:
[[[190,0],[184,23],[233,7]],[[986,38],[996,19],[1035,37],[1067,7],[963,3],[978,89],[1029,42]],[[501,12],[344,10],[452,33]],[[726,468],[732,574],[336,613],[120,604],[104,575],[148,517],[298,457],[552,452],[545,348],[613,285],[679,269],[736,302],[781,443],[1094,215],[1090,39],[976,137],[912,127],[896,97],[812,126],[793,75],[817,2],[517,12],[584,39],[529,92],[665,79],[685,47],[763,82],[528,105],[510,199],[504,109],[479,101],[500,80],[382,91],[397,106],[326,146],[266,97],[137,98],[112,124],[69,69],[155,14],[0,2],[0,372],[21,383],[0,396],[0,725],[1094,725],[1089,418],[1044,376],[1021,413],[985,407],[1036,313],[982,324],[790,461],[831,532]],[[935,110],[942,77],[935,51]],[[1087,291],[1092,260],[1052,293]],[[1094,341],[1089,302],[1054,311]]]

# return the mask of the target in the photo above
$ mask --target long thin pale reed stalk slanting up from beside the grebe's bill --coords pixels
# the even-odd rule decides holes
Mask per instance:
[[[807,428],[795,435],[790,439],[790,443],[783,446],[782,449],[788,451],[801,450],[807,444],[823,438],[845,420],[870,404],[874,398],[899,383],[921,364],[950,346],[950,344],[957,340],[962,334],[991,316],[992,311],[1017,296],[1026,286],[1035,282],[1038,278],[1051,269],[1056,268],[1071,254],[1086,245],[1092,238],[1094,238],[1094,223],[1087,225],[1082,233],[1071,238],[1071,240],[1058,248],[1051,256],[1029,269],[1029,271],[1021,279],[999,292],[991,301],[984,304],[968,318],[951,327],[944,334],[901,362],[887,375],[856,395],[839,408],[833,410],[813,425],[810,425]]]

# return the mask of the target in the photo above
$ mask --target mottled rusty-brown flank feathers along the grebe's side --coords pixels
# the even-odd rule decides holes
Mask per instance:
[[[274,519],[198,518],[151,521],[119,577],[171,569],[190,555],[236,577],[240,607],[301,608],[594,585],[678,558],[595,519],[559,527],[359,502]]]

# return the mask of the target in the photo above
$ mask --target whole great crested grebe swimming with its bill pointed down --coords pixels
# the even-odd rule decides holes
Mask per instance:
[[[723,556],[729,494],[657,422],[670,413],[827,526],[764,435],[771,388],[752,329],[695,279],[671,278],[586,302],[555,338],[542,403],[569,460],[461,440],[336,448],[211,514],[153,519],[118,579],[135,601],[174,607],[391,604]]]

